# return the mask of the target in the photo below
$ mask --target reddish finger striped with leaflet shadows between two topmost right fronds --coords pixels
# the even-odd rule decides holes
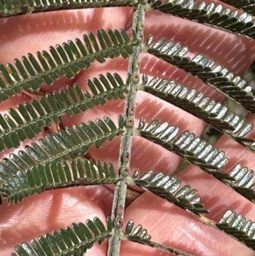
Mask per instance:
[[[167,40],[179,41],[189,47],[191,57],[205,54],[235,75],[242,75],[255,57],[254,40],[159,11],[147,11],[145,15],[145,38],[149,34],[154,34],[155,40],[166,37]]]

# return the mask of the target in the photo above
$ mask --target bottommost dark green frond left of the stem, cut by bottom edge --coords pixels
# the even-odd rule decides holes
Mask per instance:
[[[95,243],[103,243],[105,239],[112,237],[112,220],[107,219],[107,228],[99,220],[87,220],[84,223],[73,223],[71,227],[53,231],[31,239],[29,243],[16,245],[17,253],[11,256],[82,256],[87,249],[92,248]]]

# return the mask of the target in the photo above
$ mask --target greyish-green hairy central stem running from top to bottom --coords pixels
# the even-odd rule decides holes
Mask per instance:
[[[131,156],[131,146],[133,138],[133,126],[135,123],[135,103],[136,103],[136,87],[140,77],[140,56],[143,41],[143,24],[145,19],[145,6],[147,1],[141,0],[134,8],[133,13],[133,31],[141,43],[134,48],[134,53],[129,59],[129,93],[126,97],[124,106],[124,120],[126,130],[120,143],[118,176],[123,178],[116,184],[113,206],[113,236],[109,241],[108,256],[118,256],[120,252],[120,237],[122,234],[122,226],[124,222],[124,207],[126,202],[126,177],[129,176],[129,165]]]

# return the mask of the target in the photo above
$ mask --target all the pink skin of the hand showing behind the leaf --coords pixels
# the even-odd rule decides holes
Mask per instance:
[[[219,3],[219,1],[214,2]],[[47,50],[50,45],[69,39],[74,40],[77,37],[81,38],[82,34],[89,31],[95,32],[101,27],[129,29],[131,17],[131,8],[113,8],[107,11],[103,9],[57,11],[2,19],[0,31],[4,33],[0,37],[0,62],[13,63],[15,57],[20,58],[28,52],[35,54],[38,50]],[[255,59],[255,43],[249,38],[225,33],[162,13],[147,12],[145,38],[149,33],[155,34],[156,39],[167,36],[168,40],[174,39],[180,41],[182,45],[189,45],[191,56],[202,52],[237,75],[242,75]],[[74,82],[88,89],[87,79],[98,77],[99,73],[105,74],[106,72],[118,72],[123,79],[126,79],[127,66],[128,61],[121,58],[107,60],[105,64],[93,63],[89,70],[82,71],[74,79],[61,77],[53,86],[42,86],[41,91],[52,92],[64,88],[66,84],[72,85]],[[163,75],[176,79],[187,86],[209,94],[215,100],[224,100],[224,96],[200,80],[149,54],[142,55],[141,72],[148,73],[150,77]],[[1,112],[6,112],[8,107],[15,108],[17,102],[29,99],[29,96],[24,94],[10,98],[7,102],[1,103]],[[65,126],[72,126],[103,116],[109,116],[117,121],[117,114],[121,114],[122,109],[121,100],[108,102],[105,106],[96,107],[78,116],[71,118],[63,116],[62,123]],[[136,124],[142,116],[147,116],[147,121],[158,118],[161,122],[169,121],[171,124],[178,124],[182,131],[188,129],[196,135],[201,135],[205,128],[205,123],[200,119],[148,93],[139,91],[136,103]],[[255,123],[253,115],[249,114],[247,118]],[[254,137],[253,133],[251,132],[251,137]],[[43,131],[34,141],[43,137],[44,134]],[[117,138],[112,142],[106,142],[102,149],[92,147],[87,156],[95,160],[113,162],[117,167],[119,142],[120,139]],[[22,147],[30,143],[31,141],[26,141],[22,143]],[[250,169],[255,169],[255,163],[251,161],[253,154],[244,147],[238,146],[226,137],[222,137],[215,146],[226,151],[226,155],[230,158],[228,169],[244,158],[244,154],[245,160],[241,162]],[[0,158],[8,156],[11,152],[17,152],[17,149],[4,151],[0,154]],[[179,156],[140,137],[134,137],[131,158],[132,173],[135,169],[144,172],[152,168],[171,174],[179,163]],[[208,216],[212,220],[219,220],[226,209],[232,209],[254,220],[254,204],[214,177],[205,174],[193,165],[189,165],[179,174],[179,177],[183,179],[184,184],[191,184],[193,188],[198,188],[203,204],[210,209]],[[60,227],[71,225],[73,222],[85,223],[87,218],[92,219],[94,216],[105,220],[105,217],[111,213],[112,197],[113,191],[110,188],[91,186],[49,191],[10,206],[4,202],[0,206],[1,255],[10,255],[13,252],[13,246],[22,241],[29,241],[31,237],[52,232]],[[175,246],[198,256],[254,255],[252,250],[231,237],[208,227],[185,211],[149,192],[143,193],[126,208],[125,222],[130,219],[135,220],[135,225],[142,224],[149,230],[153,241]],[[106,250],[107,243],[103,243],[100,246],[95,245],[87,251],[86,255],[106,255]],[[130,242],[122,243],[121,252],[122,255],[169,255],[136,243],[131,245]]]

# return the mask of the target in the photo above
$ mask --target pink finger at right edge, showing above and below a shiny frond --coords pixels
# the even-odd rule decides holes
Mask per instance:
[[[254,124],[254,115],[251,113],[248,114],[247,120]],[[254,134],[254,129],[252,129],[246,137],[254,138]],[[223,135],[215,142],[214,147],[219,148],[220,151],[224,151],[226,157],[229,158],[229,162],[223,171],[230,172],[238,163],[251,170],[255,169],[254,153],[235,142],[235,140],[230,139],[230,137]],[[207,209],[210,209],[210,215],[208,216],[212,220],[218,221],[227,209],[236,211],[238,214],[244,215],[247,219],[254,219],[255,206],[251,201],[245,199],[232,188],[217,181],[214,177],[206,174],[197,167],[189,165],[177,176],[182,179],[184,184],[190,184],[193,188],[198,188],[198,192],[203,199],[203,204],[205,204]]]

